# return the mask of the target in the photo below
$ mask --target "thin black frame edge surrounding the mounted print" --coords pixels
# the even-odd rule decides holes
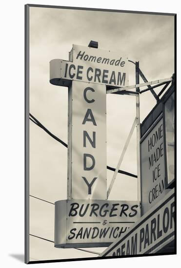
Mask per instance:
[[[125,10],[109,10],[109,9],[95,9],[95,8],[80,8],[80,7],[66,7],[66,6],[54,6],[54,5],[39,5],[39,4],[26,4],[25,5],[25,263],[26,264],[36,264],[36,263],[51,263],[51,262],[65,262],[65,261],[80,261],[80,260],[94,260],[94,259],[107,259],[111,257],[92,257],[92,258],[75,258],[75,259],[59,259],[59,260],[42,260],[42,261],[29,261],[29,10],[31,7],[40,7],[40,8],[59,8],[59,9],[75,9],[75,10],[99,10],[102,12],[119,12],[119,13],[136,13],[136,14],[147,14],[147,15],[165,15],[165,16],[174,16],[175,21],[175,86],[177,83],[177,71],[176,71],[176,29],[177,29],[177,15],[173,13],[158,13],[158,12],[141,12],[141,11],[125,11]],[[175,120],[177,120],[177,96],[175,92]],[[164,110],[164,109],[163,109]],[[163,111],[164,118],[164,111]],[[165,129],[164,129],[165,131]],[[176,138],[177,126],[175,129],[175,174],[177,171],[176,167],[176,153],[177,153],[177,138]],[[166,165],[165,165],[166,166]],[[176,178],[176,175],[175,175]],[[172,185],[167,185],[168,187],[173,188]],[[177,197],[177,183],[174,181],[175,186],[175,198]],[[177,208],[177,206],[176,206]],[[177,211],[177,209],[176,209]],[[176,212],[177,213],[177,212]],[[175,216],[176,218],[176,216]],[[177,219],[177,218],[176,218]],[[175,252],[170,254],[176,254],[176,241],[177,241],[177,229],[175,224]],[[156,255],[168,255],[169,253],[154,253],[154,254],[144,254],[142,256],[156,256]],[[138,257],[140,255],[134,255]],[[129,256],[121,256],[129,257]],[[115,256],[114,258],[120,258]]]

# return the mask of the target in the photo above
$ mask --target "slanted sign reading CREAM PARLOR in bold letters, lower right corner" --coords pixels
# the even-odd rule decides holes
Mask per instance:
[[[154,253],[175,236],[174,189],[99,256]]]

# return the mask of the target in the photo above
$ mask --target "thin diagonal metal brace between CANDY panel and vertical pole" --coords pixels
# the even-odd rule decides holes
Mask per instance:
[[[113,188],[113,184],[114,184],[114,182],[115,182],[116,176],[117,176],[117,174],[118,174],[119,168],[120,168],[120,166],[121,166],[121,163],[122,163],[124,154],[125,154],[126,149],[127,149],[127,147],[128,147],[128,144],[129,144],[129,141],[130,141],[131,136],[132,136],[132,134],[133,134],[133,131],[134,131],[134,129],[135,129],[135,126],[136,126],[136,118],[135,118],[135,120],[134,120],[134,122],[133,122],[133,125],[132,125],[132,127],[131,127],[130,133],[129,133],[128,137],[127,137],[127,140],[126,140],[126,142],[125,142],[124,148],[123,148],[123,150],[122,150],[122,153],[121,153],[120,160],[119,160],[119,162],[118,162],[117,168],[116,168],[116,170],[115,170],[115,172],[114,172],[114,175],[113,175],[113,177],[112,177],[111,183],[110,183],[110,185],[109,185],[109,189],[108,189],[108,191],[107,191],[107,198],[109,197],[109,194],[110,194],[110,192],[111,192],[111,190],[112,190],[112,188]]]

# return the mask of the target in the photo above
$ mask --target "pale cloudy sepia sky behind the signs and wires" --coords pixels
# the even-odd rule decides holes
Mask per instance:
[[[30,113],[66,143],[68,89],[49,83],[49,61],[68,60],[73,43],[87,46],[90,40],[139,60],[148,81],[174,73],[173,16],[30,7]],[[130,63],[130,85],[134,67]],[[142,121],[156,100],[146,92],[140,102]],[[116,168],[135,116],[134,96],[107,96],[107,165]],[[136,129],[120,169],[137,174]],[[113,174],[107,170],[108,186]],[[67,149],[30,121],[30,194],[54,203],[66,199],[66,184]],[[137,200],[137,180],[118,174],[109,199]],[[30,197],[30,233],[54,240],[54,205]],[[95,256],[30,236],[31,261]]]

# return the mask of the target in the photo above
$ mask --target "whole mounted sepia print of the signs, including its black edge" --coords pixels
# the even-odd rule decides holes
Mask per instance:
[[[176,254],[175,25],[25,5],[25,263]]]

